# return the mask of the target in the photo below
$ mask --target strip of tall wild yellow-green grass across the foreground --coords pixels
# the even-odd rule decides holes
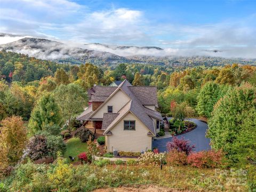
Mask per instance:
[[[214,169],[167,165],[164,165],[161,170],[159,166],[152,165],[126,166],[109,164],[109,159],[101,159],[93,164],[66,165],[68,169],[65,172],[58,171],[55,173],[53,171],[54,167],[57,166],[59,170],[60,168],[64,169],[64,164],[43,167],[34,165],[33,169],[29,169],[29,174],[19,175],[23,180],[16,179],[17,177],[13,177],[12,183],[10,183],[10,179],[4,180],[2,188],[6,188],[6,190],[2,191],[8,191],[7,189],[11,187],[12,191],[55,191],[57,189],[60,191],[92,191],[97,188],[136,187],[141,185],[201,192],[248,191],[248,188],[246,188],[246,175],[237,175],[228,170],[218,170],[216,172]],[[39,166],[41,168],[37,169]],[[62,177],[64,179],[61,180],[61,183],[54,182],[55,180],[51,180],[49,175],[44,174],[46,172],[51,173],[54,177]]]

